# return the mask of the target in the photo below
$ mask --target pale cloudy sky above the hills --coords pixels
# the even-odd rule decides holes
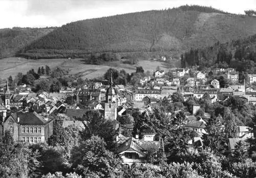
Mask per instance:
[[[244,14],[256,0],[0,0],[0,29],[62,26],[72,21],[181,5],[211,6]]]

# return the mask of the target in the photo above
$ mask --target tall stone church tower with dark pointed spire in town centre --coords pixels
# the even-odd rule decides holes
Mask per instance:
[[[106,90],[104,118],[108,120],[116,120],[117,118],[117,90],[114,88],[111,72],[111,84]]]

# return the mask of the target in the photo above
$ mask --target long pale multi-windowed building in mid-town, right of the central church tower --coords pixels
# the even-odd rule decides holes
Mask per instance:
[[[135,101],[142,101],[144,97],[157,98],[161,94],[161,90],[144,90],[139,89],[135,92]]]

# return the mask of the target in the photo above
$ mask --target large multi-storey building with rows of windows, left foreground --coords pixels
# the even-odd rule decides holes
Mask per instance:
[[[14,141],[47,142],[53,134],[53,119],[37,113],[13,113],[2,122],[3,132],[9,131]]]

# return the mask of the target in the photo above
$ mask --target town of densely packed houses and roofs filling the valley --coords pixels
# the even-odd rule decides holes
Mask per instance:
[[[55,124],[62,129],[83,131],[92,122],[87,120],[88,115],[98,113],[103,121],[114,124],[111,135],[114,151],[122,165],[131,168],[135,163],[146,163],[152,149],[164,152],[165,144],[169,144],[156,128],[147,125],[151,121],[140,123],[142,121],[136,119],[151,118],[162,109],[168,120],[165,124],[180,120],[179,127],[193,132],[193,137],[184,143],[187,150],[199,151],[204,147],[208,124],[215,122],[212,119],[227,117],[226,113],[213,116],[212,109],[218,108],[215,105],[242,102],[253,106],[256,103],[254,75],[248,74],[239,82],[239,73],[230,68],[209,69],[208,73],[196,68],[156,70],[150,76],[137,79],[136,87],[131,83],[114,83],[114,72],[109,69],[110,81],[61,86],[55,92],[35,93],[32,86],[16,85],[8,78],[0,98],[1,135],[8,131],[14,142],[58,145],[61,141],[56,137],[61,137],[58,136],[61,133],[55,130]],[[245,123],[232,124],[234,136],[227,138],[226,143],[226,152],[230,153],[238,143],[253,138],[253,132]],[[218,132],[224,132],[226,126],[223,122]],[[167,159],[170,156],[166,154]]]

